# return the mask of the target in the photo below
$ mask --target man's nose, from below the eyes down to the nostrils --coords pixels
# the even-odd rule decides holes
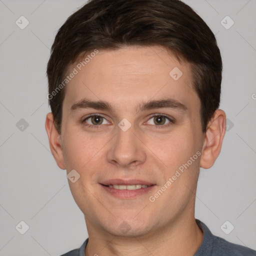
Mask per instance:
[[[146,159],[145,145],[141,137],[143,132],[136,131],[133,125],[125,131],[117,126],[116,130],[107,152],[108,162],[123,168],[143,163]]]

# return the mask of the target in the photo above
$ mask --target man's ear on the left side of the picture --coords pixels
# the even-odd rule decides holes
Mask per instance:
[[[65,169],[62,143],[60,134],[57,132],[54,125],[54,119],[52,113],[47,113],[45,120],[45,129],[48,134],[50,151],[60,169]]]

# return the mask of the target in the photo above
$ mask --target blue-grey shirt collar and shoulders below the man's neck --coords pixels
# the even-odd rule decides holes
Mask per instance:
[[[256,256],[256,250],[228,242],[221,237],[215,236],[203,222],[198,219],[195,220],[203,231],[203,240],[194,256]],[[60,256],[86,256],[84,251],[88,240],[89,238],[83,242],[80,248],[70,250]]]

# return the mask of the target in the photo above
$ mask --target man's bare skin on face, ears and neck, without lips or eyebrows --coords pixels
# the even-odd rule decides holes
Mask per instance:
[[[183,73],[178,80],[169,75],[174,67]],[[89,236],[86,255],[192,256],[203,239],[194,218],[199,167],[211,167],[220,152],[225,113],[216,110],[202,132],[200,101],[191,84],[189,63],[180,63],[156,45],[100,50],[65,90],[61,134],[51,113],[45,127],[58,166],[80,174],[76,182],[68,182],[84,213]],[[85,97],[105,100],[115,111],[70,110]],[[167,97],[187,109],[136,108],[142,101]],[[96,125],[95,117],[83,121],[89,114],[102,115],[102,124]],[[163,117],[158,124],[152,114],[167,115],[174,122]],[[123,118],[131,124],[126,131],[117,125]],[[149,201],[197,151],[201,155],[155,201]],[[120,199],[99,185],[110,178],[137,178],[156,185],[137,198]],[[118,228],[123,221],[130,227],[127,233]]]

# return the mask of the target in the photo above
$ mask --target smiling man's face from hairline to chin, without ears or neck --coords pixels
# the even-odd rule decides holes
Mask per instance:
[[[88,230],[144,235],[193,216],[203,133],[189,64],[129,46],[81,67],[65,87],[60,138]]]

